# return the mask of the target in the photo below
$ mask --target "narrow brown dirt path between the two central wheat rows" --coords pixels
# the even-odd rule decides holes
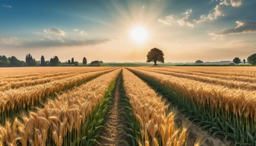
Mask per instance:
[[[116,83],[115,90],[113,92],[113,99],[112,99],[112,105],[108,111],[108,114],[106,117],[104,128],[102,129],[102,132],[100,133],[100,138],[98,140],[101,145],[125,145],[120,140],[127,140],[127,136],[125,135],[125,121],[124,121],[124,115],[122,114],[122,107],[120,107],[121,96],[119,95],[120,92],[120,86],[121,86],[121,76],[119,75],[118,81]]]

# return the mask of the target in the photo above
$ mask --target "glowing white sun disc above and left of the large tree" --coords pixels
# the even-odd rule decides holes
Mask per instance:
[[[141,26],[137,26],[131,29],[131,38],[138,42],[143,43],[147,39],[147,31]]]

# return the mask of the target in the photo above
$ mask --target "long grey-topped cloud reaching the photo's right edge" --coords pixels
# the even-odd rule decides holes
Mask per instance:
[[[224,35],[228,34],[240,34],[240,33],[256,33],[256,21],[249,21],[249,20],[241,20],[236,21],[237,27],[231,28],[231,29],[224,29],[220,32],[208,32],[209,35],[212,36],[221,36],[224,37]]]

